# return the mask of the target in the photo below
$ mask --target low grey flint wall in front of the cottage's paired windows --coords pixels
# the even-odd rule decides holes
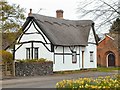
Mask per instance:
[[[15,63],[16,76],[42,76],[53,74],[53,62]]]

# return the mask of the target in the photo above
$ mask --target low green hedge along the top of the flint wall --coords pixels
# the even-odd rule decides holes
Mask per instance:
[[[23,60],[17,60],[18,62],[21,63],[32,63],[32,62],[51,62],[48,61],[47,59],[40,58],[40,59],[23,59]]]

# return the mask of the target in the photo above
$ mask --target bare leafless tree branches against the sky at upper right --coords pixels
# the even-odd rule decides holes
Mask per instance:
[[[96,21],[97,32],[101,33],[105,29],[108,31],[112,22],[120,18],[120,2],[119,0],[81,0],[77,12],[80,13],[80,17],[88,15]]]

